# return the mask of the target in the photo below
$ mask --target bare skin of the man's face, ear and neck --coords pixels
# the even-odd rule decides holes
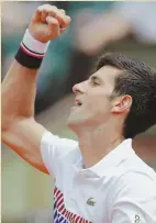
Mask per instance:
[[[86,168],[97,164],[124,140],[123,122],[132,105],[132,98],[121,96],[110,100],[115,77],[120,73],[114,67],[104,66],[73,88],[76,99],[82,104],[71,108],[67,125],[78,136]]]

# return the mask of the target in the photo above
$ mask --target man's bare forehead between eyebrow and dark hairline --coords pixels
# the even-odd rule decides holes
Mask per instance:
[[[112,66],[103,66],[93,75],[103,80],[103,82],[114,82],[115,77],[121,73],[120,69]]]

